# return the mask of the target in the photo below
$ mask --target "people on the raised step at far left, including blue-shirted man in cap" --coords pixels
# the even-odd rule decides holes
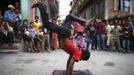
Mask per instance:
[[[21,20],[19,9],[15,9],[12,5],[8,6],[4,16],[0,10],[0,44],[8,43],[10,47],[12,46],[15,41],[14,35],[17,36]]]

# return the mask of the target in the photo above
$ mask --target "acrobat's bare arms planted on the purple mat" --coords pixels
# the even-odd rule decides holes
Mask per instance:
[[[69,60],[67,62],[66,75],[72,75],[74,63],[75,63],[75,60],[73,58],[69,57]]]

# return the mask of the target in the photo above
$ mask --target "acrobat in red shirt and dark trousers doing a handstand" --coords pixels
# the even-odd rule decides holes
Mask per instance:
[[[69,54],[66,75],[72,75],[74,63],[80,60],[87,61],[90,57],[90,52],[88,50],[80,50],[74,45],[73,41],[70,39],[71,26],[73,25],[73,22],[78,22],[81,25],[87,26],[93,19],[90,19],[88,20],[88,22],[85,22],[84,20],[81,20],[75,16],[68,15],[62,26],[60,26],[49,22],[49,17],[46,13],[46,5],[43,5],[41,2],[38,2],[32,6],[32,8],[35,7],[38,7],[40,10],[43,26],[51,30],[52,32],[56,32],[59,35],[61,48]]]

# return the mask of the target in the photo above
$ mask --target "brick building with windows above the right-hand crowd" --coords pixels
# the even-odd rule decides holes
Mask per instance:
[[[133,0],[73,0],[71,14],[88,19],[99,16],[103,19],[133,15]]]

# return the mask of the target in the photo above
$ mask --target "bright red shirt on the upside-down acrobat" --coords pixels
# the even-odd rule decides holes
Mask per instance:
[[[71,55],[72,58],[76,60],[76,62],[80,61],[82,54],[81,50],[74,45],[72,40],[68,40],[63,48],[68,54]]]

